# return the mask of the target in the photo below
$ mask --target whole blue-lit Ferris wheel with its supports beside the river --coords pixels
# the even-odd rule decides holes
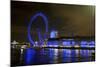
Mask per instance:
[[[42,26],[40,25],[40,23],[36,22],[36,20],[38,18],[42,19]],[[35,28],[33,26],[36,26]],[[44,26],[44,27],[43,27]],[[34,28],[32,30],[32,27]],[[33,34],[32,34],[32,32]],[[38,45],[42,45],[44,40],[47,39],[47,34],[48,34],[48,19],[46,17],[46,15],[42,12],[38,12],[35,15],[33,15],[30,19],[29,25],[28,25],[28,39],[30,42],[30,46],[35,45],[35,34],[37,34],[38,37]]]

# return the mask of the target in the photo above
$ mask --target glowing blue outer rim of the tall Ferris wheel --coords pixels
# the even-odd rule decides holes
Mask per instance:
[[[31,26],[32,26],[32,23],[33,21],[37,18],[37,17],[42,17],[43,20],[44,20],[44,23],[45,23],[45,33],[48,33],[48,20],[47,20],[47,17],[42,13],[42,12],[39,12],[39,13],[36,13],[34,16],[32,16],[31,20],[30,20],[30,23],[28,25],[28,39],[31,43],[31,46],[35,45],[35,41],[32,39],[31,37]],[[40,34],[39,34],[40,36]],[[45,34],[46,36],[46,34]],[[42,37],[39,37],[40,39],[43,39]]]

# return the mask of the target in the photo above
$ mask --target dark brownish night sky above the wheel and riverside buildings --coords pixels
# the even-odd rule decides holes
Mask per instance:
[[[37,12],[47,16],[49,32],[55,29],[60,37],[95,36],[95,6],[11,1],[12,41],[28,41],[28,24]],[[44,33],[45,24],[41,17],[34,22],[31,34],[37,38],[37,27]]]

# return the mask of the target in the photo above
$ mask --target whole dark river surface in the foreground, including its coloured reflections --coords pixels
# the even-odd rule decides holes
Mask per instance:
[[[92,54],[93,52],[94,50],[72,50],[53,48],[27,48],[21,52],[20,49],[13,49],[11,54],[11,65],[23,66],[95,61],[95,56]]]

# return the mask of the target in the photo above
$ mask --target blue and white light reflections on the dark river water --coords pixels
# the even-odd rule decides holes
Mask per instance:
[[[93,61],[92,50],[32,49],[24,51],[24,65]]]

